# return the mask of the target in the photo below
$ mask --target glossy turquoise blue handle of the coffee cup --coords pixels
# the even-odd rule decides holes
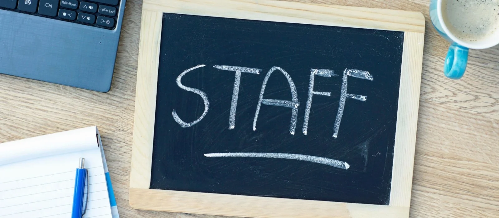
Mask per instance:
[[[447,52],[447,57],[444,62],[444,74],[446,77],[454,80],[459,80],[466,71],[468,63],[468,48],[452,43]]]

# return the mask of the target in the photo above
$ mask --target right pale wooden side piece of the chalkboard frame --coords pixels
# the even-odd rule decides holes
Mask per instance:
[[[411,196],[414,169],[417,128],[414,123],[418,122],[424,37],[424,33],[404,34],[390,206],[407,207],[411,203],[408,196]]]

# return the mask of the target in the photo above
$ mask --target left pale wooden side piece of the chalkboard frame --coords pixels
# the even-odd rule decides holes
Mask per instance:
[[[132,143],[134,149],[130,172],[131,188],[148,189],[151,184],[153,148],[139,145],[153,144],[162,18],[163,13],[142,10]]]

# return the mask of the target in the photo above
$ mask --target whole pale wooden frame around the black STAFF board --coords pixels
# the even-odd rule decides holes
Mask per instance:
[[[390,204],[382,206],[150,189],[163,13],[403,31]],[[131,207],[262,218],[409,217],[424,31],[424,16],[411,11],[273,0],[144,0],[130,172]]]

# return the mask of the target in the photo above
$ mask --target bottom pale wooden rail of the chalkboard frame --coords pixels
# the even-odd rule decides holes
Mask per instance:
[[[332,217],[332,215],[337,218],[402,218],[407,217],[409,213],[407,207],[157,189],[131,188],[130,195],[134,196],[134,198],[130,198],[130,204],[134,208],[164,210],[165,205],[168,205],[172,211],[215,215],[266,218],[324,218]],[[304,212],[307,213],[304,214]]]

